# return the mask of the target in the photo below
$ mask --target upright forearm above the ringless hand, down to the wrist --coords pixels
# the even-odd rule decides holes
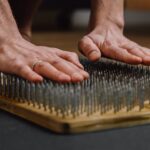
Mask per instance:
[[[124,26],[124,0],[91,0],[90,26],[94,28],[106,21]]]

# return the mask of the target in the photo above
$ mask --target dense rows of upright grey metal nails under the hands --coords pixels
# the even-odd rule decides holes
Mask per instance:
[[[136,106],[150,98],[150,67],[132,66],[103,59],[81,60],[90,78],[81,83],[57,83],[44,79],[31,83],[15,75],[0,74],[0,95],[57,116],[103,115]]]

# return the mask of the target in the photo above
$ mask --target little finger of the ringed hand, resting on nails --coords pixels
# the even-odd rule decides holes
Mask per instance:
[[[38,75],[28,66],[21,67],[16,73],[29,81],[41,82],[43,80],[42,76]]]

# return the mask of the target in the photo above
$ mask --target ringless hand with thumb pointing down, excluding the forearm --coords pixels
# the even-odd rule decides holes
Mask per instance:
[[[104,56],[129,64],[150,65],[150,49],[127,39],[120,28],[108,24],[84,36],[79,41],[80,52],[91,61]]]

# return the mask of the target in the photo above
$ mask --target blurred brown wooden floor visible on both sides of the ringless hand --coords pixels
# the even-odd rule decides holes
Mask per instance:
[[[83,32],[35,32],[33,42],[40,45],[57,47],[63,50],[77,51],[78,40]],[[133,41],[150,48],[150,34],[126,33]]]

